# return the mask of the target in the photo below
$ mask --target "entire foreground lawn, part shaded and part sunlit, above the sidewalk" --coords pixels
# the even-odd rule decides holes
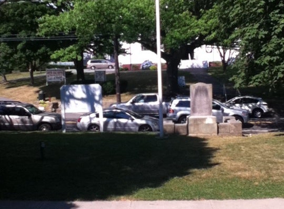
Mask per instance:
[[[284,133],[161,139],[137,133],[1,132],[0,199],[284,198],[283,142]]]

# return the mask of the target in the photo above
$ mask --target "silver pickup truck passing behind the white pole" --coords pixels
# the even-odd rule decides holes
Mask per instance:
[[[163,97],[163,114],[166,115],[170,104],[170,98]],[[110,107],[129,109],[142,115],[159,115],[159,95],[157,93],[137,94],[126,103],[111,104]]]

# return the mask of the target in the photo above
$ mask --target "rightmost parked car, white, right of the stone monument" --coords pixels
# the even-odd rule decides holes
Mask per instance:
[[[226,104],[231,107],[246,109],[249,114],[256,118],[261,118],[270,111],[268,104],[262,98],[253,96],[234,97],[228,100]]]

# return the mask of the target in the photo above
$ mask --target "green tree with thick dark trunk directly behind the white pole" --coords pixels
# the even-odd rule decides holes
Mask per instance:
[[[201,17],[212,8],[213,0],[160,0],[162,58],[167,62],[167,93],[179,91],[178,65],[181,59],[194,58],[194,49],[204,44],[207,34]],[[139,42],[157,52],[155,1],[128,0],[125,40]]]

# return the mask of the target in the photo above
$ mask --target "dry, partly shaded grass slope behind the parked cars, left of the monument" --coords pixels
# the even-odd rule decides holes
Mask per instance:
[[[68,70],[67,70],[68,71]],[[162,71],[163,83],[166,83],[166,71]],[[6,75],[8,83],[0,83],[0,97],[9,98],[16,101],[38,104],[38,93],[43,90],[46,99],[51,102],[60,102],[60,87],[62,84],[52,84],[46,86],[45,72],[35,72],[35,85],[30,85],[29,73],[12,73]],[[189,72],[179,72],[179,76],[185,76],[186,84],[189,86],[193,78]],[[86,79],[94,79],[94,73],[85,73]],[[107,74],[107,80],[114,80],[114,74]],[[21,78],[21,79],[20,79]],[[128,101],[133,95],[146,92],[158,92],[157,71],[143,70],[120,72],[120,79],[127,80],[126,92],[121,94],[121,101]],[[76,75],[66,78],[66,84],[76,80]],[[116,95],[103,97],[103,105],[106,107],[116,101]]]

